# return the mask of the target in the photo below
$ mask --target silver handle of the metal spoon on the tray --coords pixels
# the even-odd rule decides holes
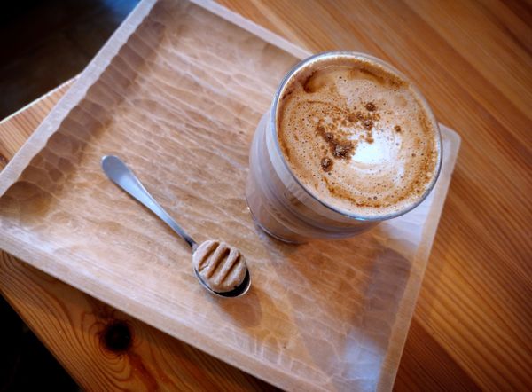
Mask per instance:
[[[153,199],[150,192],[146,191],[144,185],[138,180],[126,164],[120,158],[113,155],[106,155],[102,158],[102,169],[106,176],[114,184],[117,184],[124,192],[128,193],[133,199],[148,208],[156,216],[167,223],[173,231],[176,231],[182,239],[192,247],[192,251],[197,247],[196,241],[192,239],[171,216],[160,207],[160,204]]]

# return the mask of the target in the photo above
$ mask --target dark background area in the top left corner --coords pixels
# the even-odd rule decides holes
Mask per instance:
[[[137,0],[8,0],[0,12],[0,120],[79,74]]]

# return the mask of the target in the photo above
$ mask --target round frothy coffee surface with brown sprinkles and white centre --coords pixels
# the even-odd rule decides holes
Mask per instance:
[[[419,94],[369,59],[300,70],[278,103],[278,141],[309,192],[359,216],[407,208],[426,192],[438,134]]]

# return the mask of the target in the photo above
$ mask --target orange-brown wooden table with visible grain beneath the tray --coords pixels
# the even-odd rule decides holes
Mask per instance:
[[[312,51],[389,60],[462,137],[395,389],[530,388],[530,5],[221,3]],[[0,123],[0,169],[70,84]],[[1,293],[82,388],[272,388],[10,255],[0,270]]]

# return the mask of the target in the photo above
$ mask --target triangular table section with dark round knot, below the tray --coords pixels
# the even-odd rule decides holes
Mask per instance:
[[[0,269],[2,294],[84,390],[275,389],[10,255]]]

